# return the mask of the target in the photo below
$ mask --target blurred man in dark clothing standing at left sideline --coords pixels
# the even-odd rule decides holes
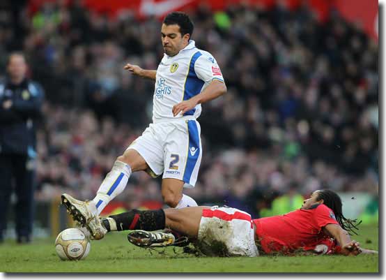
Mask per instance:
[[[31,241],[36,158],[35,121],[44,92],[26,78],[23,54],[10,54],[8,76],[0,81],[0,242],[6,230],[7,210],[15,187],[17,242]]]

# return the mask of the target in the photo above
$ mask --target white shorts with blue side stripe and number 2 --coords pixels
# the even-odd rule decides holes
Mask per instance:
[[[193,188],[202,157],[201,127],[196,119],[150,124],[128,149],[135,149],[148,163],[152,177],[175,178]]]

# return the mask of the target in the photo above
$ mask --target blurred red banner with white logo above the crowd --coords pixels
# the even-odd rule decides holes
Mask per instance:
[[[30,12],[33,13],[46,2],[54,1],[31,0],[29,2]],[[65,0],[61,3],[70,4],[72,2],[74,1]],[[324,22],[328,19],[330,10],[336,9],[348,22],[354,22],[363,28],[369,36],[378,40],[378,1],[376,0],[84,0],[83,3],[91,10],[105,13],[110,17],[131,13],[135,17],[143,19],[150,16],[162,19],[164,15],[173,10],[189,11],[199,6],[205,6],[210,10],[223,10],[227,6],[240,3],[247,6],[258,6],[263,9],[269,9],[275,5],[288,9],[307,6],[314,11],[318,20]]]

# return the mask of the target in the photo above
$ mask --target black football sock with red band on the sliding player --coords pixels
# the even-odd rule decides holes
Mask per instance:
[[[102,219],[102,223],[107,231],[163,230],[165,228],[165,213],[162,209],[146,211],[133,209]]]

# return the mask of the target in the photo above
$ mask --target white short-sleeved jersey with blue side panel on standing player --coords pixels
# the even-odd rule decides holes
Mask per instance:
[[[196,48],[194,40],[173,57],[164,54],[157,68],[153,96],[153,122],[178,119],[173,117],[173,106],[188,100],[205,89],[212,80],[224,82],[215,58],[209,52]],[[185,112],[184,116],[199,117],[201,104]]]

